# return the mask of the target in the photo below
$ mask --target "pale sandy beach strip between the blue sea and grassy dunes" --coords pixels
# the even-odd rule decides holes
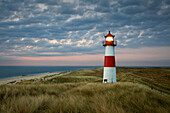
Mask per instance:
[[[51,73],[47,72],[47,73],[39,73],[39,74],[30,74],[30,75],[25,75],[25,76],[3,78],[3,79],[0,79],[0,85],[4,85],[4,84],[8,84],[8,83],[12,84],[12,82],[17,83],[22,80],[41,79],[45,76],[50,76],[50,75],[59,74],[59,73],[61,73],[61,72],[51,72]],[[61,75],[59,74],[57,76],[61,76]]]

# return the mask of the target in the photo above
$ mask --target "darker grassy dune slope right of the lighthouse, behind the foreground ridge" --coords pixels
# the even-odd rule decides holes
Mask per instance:
[[[118,75],[118,81],[139,83],[170,94],[169,68],[118,68]]]

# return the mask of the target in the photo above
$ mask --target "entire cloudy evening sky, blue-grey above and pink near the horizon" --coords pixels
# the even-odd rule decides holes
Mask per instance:
[[[169,0],[0,0],[0,66],[170,66]]]

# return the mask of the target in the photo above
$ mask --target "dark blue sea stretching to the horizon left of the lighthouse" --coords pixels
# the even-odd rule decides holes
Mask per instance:
[[[0,66],[0,79],[100,67],[102,66]]]

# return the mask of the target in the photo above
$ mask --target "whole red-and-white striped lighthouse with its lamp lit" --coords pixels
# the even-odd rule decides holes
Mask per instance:
[[[115,49],[117,42],[114,35],[109,33],[105,36],[103,46],[105,47],[103,83],[116,82]]]

